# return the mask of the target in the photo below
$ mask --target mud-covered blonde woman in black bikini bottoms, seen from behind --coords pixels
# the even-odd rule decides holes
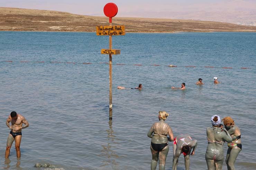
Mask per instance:
[[[165,123],[168,116],[169,114],[165,111],[159,111],[159,122],[155,122],[148,131],[148,137],[152,138],[150,144],[150,150],[152,153],[151,170],[156,169],[158,160],[159,170],[165,169],[166,157],[169,151],[168,141],[173,141],[172,128],[168,123]],[[167,134],[170,138],[167,137]]]

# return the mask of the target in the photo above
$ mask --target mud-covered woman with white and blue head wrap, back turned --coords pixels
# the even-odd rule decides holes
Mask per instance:
[[[207,128],[208,146],[205,153],[208,170],[222,170],[224,160],[223,142],[232,142],[232,137],[225,128],[220,128],[221,119],[214,115],[211,117],[212,127]]]

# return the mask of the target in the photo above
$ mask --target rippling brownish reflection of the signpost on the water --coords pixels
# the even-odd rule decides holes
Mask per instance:
[[[112,169],[115,169],[115,167],[118,167],[118,163],[116,162],[116,159],[118,158],[118,155],[115,151],[112,150],[112,144],[115,143],[115,135],[114,131],[112,129],[112,120],[109,120],[109,129],[106,130],[108,137],[107,137],[107,144],[102,145],[101,150],[101,156],[106,157],[107,159],[102,161],[101,167],[107,167],[110,166]]]

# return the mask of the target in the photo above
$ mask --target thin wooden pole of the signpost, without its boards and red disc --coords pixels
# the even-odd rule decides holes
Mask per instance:
[[[109,17],[111,18],[111,17]],[[112,18],[109,26],[112,26]],[[109,36],[109,49],[112,49],[112,36]],[[112,54],[109,54],[109,120],[112,120]]]

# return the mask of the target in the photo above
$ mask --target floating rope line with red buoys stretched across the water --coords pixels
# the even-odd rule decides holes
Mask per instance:
[[[6,60],[1,62],[9,62],[9,63],[52,63],[52,64],[109,64],[108,62],[99,62],[99,63],[92,63],[92,62],[60,62],[60,61],[12,61]],[[249,67],[241,67],[241,68],[233,68],[233,67],[214,67],[214,66],[175,66],[175,65],[160,65],[160,64],[125,64],[125,63],[117,63],[118,66],[164,66],[164,67],[186,67],[186,68],[196,68],[196,67],[204,67],[204,68],[221,68],[221,69],[252,69]]]

